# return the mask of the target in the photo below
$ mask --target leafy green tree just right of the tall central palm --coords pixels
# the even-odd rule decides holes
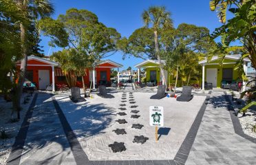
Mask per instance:
[[[198,61],[211,54],[216,46],[207,28],[186,23],[181,23],[177,29],[162,31],[160,43],[167,69],[176,77],[175,87],[179,72],[182,85],[189,85],[192,77],[198,79],[201,70]]]

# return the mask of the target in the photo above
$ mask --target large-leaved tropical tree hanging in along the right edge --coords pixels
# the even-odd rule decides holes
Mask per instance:
[[[222,53],[234,52],[239,50],[242,52],[242,59],[249,58],[252,66],[256,68],[256,3],[255,0],[211,0],[210,8],[212,11],[217,10],[217,16],[220,22],[224,23],[220,28],[217,28],[213,32],[213,38],[221,36],[221,43],[218,43],[218,48]],[[226,21],[227,10],[233,14],[233,18]],[[242,46],[230,46],[233,41],[240,41]],[[242,65],[243,61],[240,60],[237,65]],[[243,73],[243,79],[246,80],[246,76]],[[255,94],[255,88],[245,91],[244,94]],[[256,102],[250,102],[241,111],[245,112],[249,107],[256,104]]]

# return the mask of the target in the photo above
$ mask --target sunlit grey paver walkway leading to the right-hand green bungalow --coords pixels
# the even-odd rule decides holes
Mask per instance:
[[[256,164],[256,144],[235,133],[221,91],[211,95],[186,164]]]

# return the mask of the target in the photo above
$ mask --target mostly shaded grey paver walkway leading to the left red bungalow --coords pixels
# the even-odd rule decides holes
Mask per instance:
[[[50,94],[38,95],[20,164],[76,164]]]

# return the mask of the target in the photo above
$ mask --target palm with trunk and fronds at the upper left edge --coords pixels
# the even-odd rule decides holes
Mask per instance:
[[[32,23],[35,23],[36,19],[49,17],[53,12],[54,8],[52,3],[49,0],[16,0],[17,6],[23,15],[30,19]],[[25,26],[22,22],[20,23],[21,30],[21,44],[23,45],[21,55],[21,72],[23,73],[21,78],[19,78],[19,85],[17,89],[17,100],[18,102],[14,103],[14,109],[17,110],[17,118],[19,119],[19,111],[21,109],[20,100],[22,94],[23,82],[25,79],[25,72],[27,68],[28,61],[28,34],[31,32],[30,28]]]

